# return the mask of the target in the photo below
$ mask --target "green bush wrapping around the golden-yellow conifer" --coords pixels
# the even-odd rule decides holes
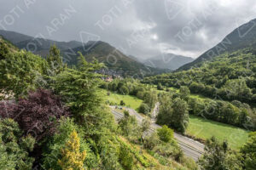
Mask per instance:
[[[55,169],[62,170],[61,165],[58,163],[58,160],[63,158],[63,153],[61,153],[61,149],[67,148],[65,145],[67,141],[70,140],[70,134],[73,132],[78,133],[79,150],[86,151],[86,159],[83,161],[84,166],[89,169],[94,169],[98,165],[98,159],[96,157],[96,153],[94,154],[90,148],[95,149],[94,144],[89,145],[90,139],[85,140],[84,134],[82,133],[81,128],[73,122],[73,119],[63,118],[61,119],[59,126],[56,127],[55,135],[49,139],[49,143],[45,145],[44,153],[43,153],[43,167],[44,169]]]

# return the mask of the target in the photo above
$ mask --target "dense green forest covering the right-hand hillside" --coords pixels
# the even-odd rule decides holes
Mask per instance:
[[[253,104],[256,102],[255,72],[256,53],[254,49],[245,48],[222,54],[189,71],[146,77],[143,82],[176,88],[187,86],[194,94]]]

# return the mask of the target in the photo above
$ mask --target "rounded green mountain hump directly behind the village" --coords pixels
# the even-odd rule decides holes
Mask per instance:
[[[63,58],[67,60],[69,65],[77,65],[78,59],[76,54],[78,52],[81,52],[86,60],[92,61],[95,58],[99,62],[104,63],[108,69],[118,71],[123,76],[143,77],[166,71],[143,65],[136,58],[126,56],[117,48],[102,41],[87,42],[84,46],[64,50],[62,51]]]

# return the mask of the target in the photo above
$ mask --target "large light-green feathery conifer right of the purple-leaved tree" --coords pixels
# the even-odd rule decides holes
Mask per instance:
[[[82,54],[79,56],[79,68],[67,69],[54,78],[51,87],[60,94],[72,112],[75,121],[84,127],[84,133],[100,135],[113,125],[113,115],[103,105],[99,86],[101,76],[95,71],[102,64],[96,60],[88,63]]]

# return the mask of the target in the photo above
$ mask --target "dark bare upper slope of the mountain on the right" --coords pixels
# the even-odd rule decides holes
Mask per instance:
[[[181,66],[178,70],[188,70],[192,66],[199,66],[202,61],[211,60],[219,54],[224,54],[225,52],[232,53],[236,50],[249,47],[256,47],[256,19],[239,26],[228,36],[224,37],[222,42],[219,42],[215,47],[201,54],[201,56],[193,62]]]

